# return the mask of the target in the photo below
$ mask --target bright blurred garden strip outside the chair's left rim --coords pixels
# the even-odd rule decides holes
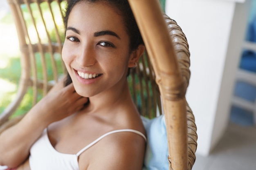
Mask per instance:
[[[0,113],[15,98],[20,77],[19,42],[7,1],[0,1]]]

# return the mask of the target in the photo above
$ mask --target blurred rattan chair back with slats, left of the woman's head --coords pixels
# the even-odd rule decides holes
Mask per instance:
[[[33,91],[33,106],[65,74],[62,0],[8,0],[20,44],[21,77],[16,99],[0,115],[0,124]]]

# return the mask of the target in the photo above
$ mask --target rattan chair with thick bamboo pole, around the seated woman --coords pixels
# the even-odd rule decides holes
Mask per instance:
[[[45,95],[66,72],[61,60],[64,35],[61,9],[65,1],[8,2],[18,32],[22,74],[17,98],[0,115],[0,133],[19,121],[20,118],[9,120],[9,117],[28,88],[33,89],[34,105],[40,99],[38,96]],[[138,66],[130,70],[130,91],[141,115],[153,118],[157,116],[156,110],[162,114],[163,108],[170,170],[191,170],[197,134],[193,113],[185,99],[190,77],[189,45],[177,23],[162,15],[157,0],[129,2],[147,49]]]

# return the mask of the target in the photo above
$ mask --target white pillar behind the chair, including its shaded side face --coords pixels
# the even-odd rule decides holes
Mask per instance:
[[[190,46],[191,79],[186,98],[198,127],[200,155],[209,155],[229,119],[234,70],[242,41],[240,36],[229,36],[236,4],[234,0],[166,0],[167,15],[181,26]],[[233,32],[244,34],[243,28]],[[230,52],[232,48],[236,54]]]

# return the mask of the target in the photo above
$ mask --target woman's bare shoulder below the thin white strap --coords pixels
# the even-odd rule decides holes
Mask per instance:
[[[145,147],[145,139],[134,132],[111,134],[95,150],[88,170],[141,170]]]

